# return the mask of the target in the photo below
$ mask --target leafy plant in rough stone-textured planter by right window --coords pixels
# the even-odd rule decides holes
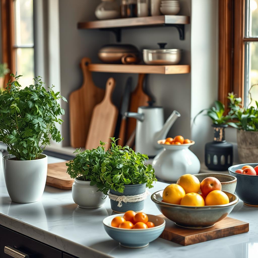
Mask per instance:
[[[258,102],[251,96],[252,85],[249,90],[250,103],[242,107],[241,98],[229,93],[230,111],[235,122],[228,123],[237,128],[237,148],[240,163],[256,163],[258,160]],[[254,104],[254,106],[253,106]]]

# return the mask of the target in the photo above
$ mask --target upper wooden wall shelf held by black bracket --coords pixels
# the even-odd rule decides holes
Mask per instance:
[[[160,15],[136,18],[111,19],[79,22],[78,29],[107,29],[125,27],[146,27],[172,24],[189,24],[190,17],[183,15]]]

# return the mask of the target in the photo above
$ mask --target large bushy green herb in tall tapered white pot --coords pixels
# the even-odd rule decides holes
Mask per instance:
[[[46,91],[41,77],[22,89],[21,75],[12,76],[15,80],[0,92],[0,141],[9,152],[3,157],[4,178],[12,201],[32,203],[41,198],[46,183],[47,156],[42,152],[50,139],[63,140],[55,123],[63,122],[58,100],[66,99],[53,87]]]

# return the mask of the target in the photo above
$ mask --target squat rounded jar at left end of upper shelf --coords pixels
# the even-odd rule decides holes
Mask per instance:
[[[95,16],[99,20],[119,18],[119,6],[115,0],[102,0],[102,3],[100,3],[95,10]]]

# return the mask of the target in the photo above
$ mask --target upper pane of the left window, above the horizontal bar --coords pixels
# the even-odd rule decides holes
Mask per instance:
[[[15,0],[15,45],[33,44],[33,0]]]

